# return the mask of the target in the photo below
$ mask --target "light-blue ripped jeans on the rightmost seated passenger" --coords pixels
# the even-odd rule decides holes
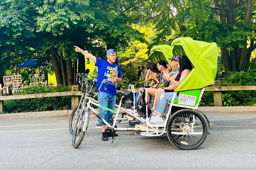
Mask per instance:
[[[165,108],[167,106],[167,102],[170,102],[173,99],[174,92],[169,93],[160,93],[157,107],[153,113],[157,113],[159,116],[163,116],[165,112]],[[177,99],[177,96],[175,96],[174,99]]]

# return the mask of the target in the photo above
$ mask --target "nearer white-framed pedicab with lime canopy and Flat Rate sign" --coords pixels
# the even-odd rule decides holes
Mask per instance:
[[[84,111],[80,114],[75,125],[72,144],[77,148],[84,137],[89,123],[89,114],[92,111],[99,119],[106,123],[106,132],[112,134],[112,143],[114,141],[113,133],[116,131],[134,131],[134,134],[140,132],[142,136],[160,136],[166,133],[169,141],[177,148],[182,150],[196,149],[204,143],[207,134],[210,134],[210,122],[207,116],[197,109],[202,94],[206,86],[214,84],[217,72],[217,45],[216,43],[207,43],[196,41],[189,37],[176,38],[169,45],[154,46],[150,53],[155,63],[159,60],[165,60],[170,64],[168,58],[175,55],[186,55],[192,64],[192,71],[188,74],[175,89],[173,99],[168,102],[166,111],[163,116],[164,121],[161,123],[149,122],[148,113],[145,117],[137,115],[129,107],[121,107],[122,100],[134,96],[134,86],[129,85],[129,91],[117,90],[121,94],[121,101],[116,104],[117,111],[98,104],[98,101],[92,98],[93,94],[86,95],[88,104],[83,106]],[[190,81],[189,81],[190,80]],[[101,82],[101,85],[108,83]],[[111,84],[111,83],[110,83]],[[114,85],[114,84],[113,84]],[[147,93],[147,89],[145,89]],[[177,98],[175,99],[175,96]],[[146,102],[147,102],[146,98]],[[116,114],[113,117],[113,123],[108,123],[93,108],[96,105],[107,109]],[[123,111],[122,118],[119,113]],[[146,109],[146,112],[148,109]],[[124,120],[136,120],[134,127],[116,127],[117,122]]]

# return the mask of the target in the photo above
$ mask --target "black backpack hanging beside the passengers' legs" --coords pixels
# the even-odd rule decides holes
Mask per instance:
[[[137,98],[137,101],[135,103],[135,109],[137,109],[138,114],[141,117],[149,117],[152,114],[152,111],[149,107],[147,107],[148,102],[145,102],[145,88],[143,88],[143,91],[140,91],[139,96]],[[148,116],[147,114],[147,110],[148,110]]]

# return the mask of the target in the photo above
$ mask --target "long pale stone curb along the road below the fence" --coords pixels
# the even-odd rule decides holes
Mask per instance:
[[[253,112],[253,113],[256,113],[256,106],[198,107],[198,109],[201,110],[202,112]],[[71,113],[72,113],[72,110],[0,114],[0,120],[26,119],[31,117],[46,117],[46,116],[64,116],[64,115],[70,115]]]

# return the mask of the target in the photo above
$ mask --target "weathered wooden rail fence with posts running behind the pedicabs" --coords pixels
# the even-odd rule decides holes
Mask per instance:
[[[137,92],[138,89],[135,89]],[[221,91],[237,91],[237,90],[256,90],[256,86],[220,86],[220,81],[215,81],[215,86],[206,87],[205,91],[213,91],[214,106],[222,106],[222,95]],[[5,100],[16,100],[16,99],[31,99],[31,98],[45,98],[45,97],[57,97],[57,96],[72,96],[71,103],[72,109],[77,106],[79,102],[79,96],[82,95],[81,91],[78,91],[78,85],[72,86],[72,91],[57,92],[57,93],[41,93],[31,95],[13,95],[3,96],[3,92],[0,90],[0,113],[3,112],[3,101]]]

